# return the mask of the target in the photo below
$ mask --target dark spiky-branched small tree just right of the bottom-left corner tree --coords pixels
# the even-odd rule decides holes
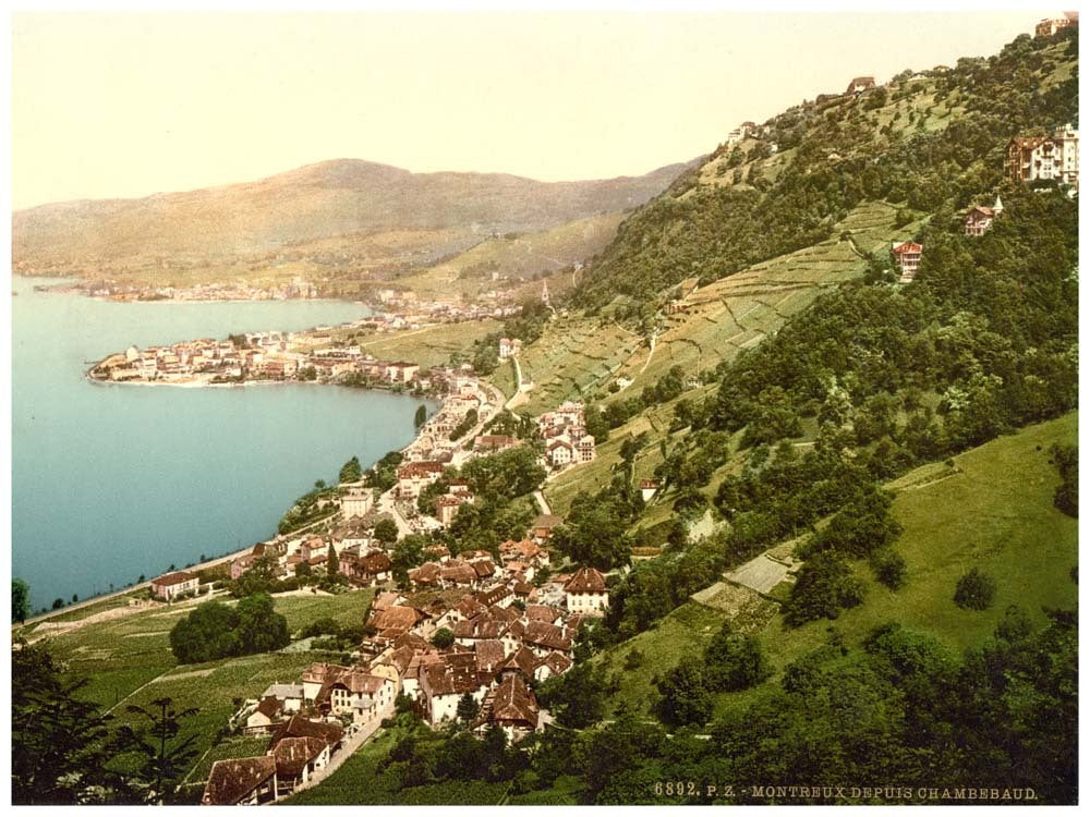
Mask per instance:
[[[141,723],[122,725],[113,741],[116,754],[133,753],[140,758],[135,771],[126,775],[126,783],[142,803],[162,805],[170,800],[181,783],[182,777],[197,749],[194,743],[197,734],[177,742],[181,721],[197,714],[196,708],[173,708],[171,698],[156,698],[150,706],[130,706],[131,715],[137,715]]]

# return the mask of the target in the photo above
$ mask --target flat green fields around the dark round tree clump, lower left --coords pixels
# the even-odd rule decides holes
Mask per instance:
[[[291,631],[298,632],[327,615],[344,624],[359,623],[373,595],[374,590],[360,590],[340,596],[281,596],[275,600]],[[196,707],[198,712],[186,721],[185,733],[192,730],[198,734],[201,758],[213,748],[217,732],[238,708],[237,698],[253,698],[270,683],[295,680],[320,656],[270,653],[180,666],[170,651],[169,634],[192,609],[180,605],[144,610],[51,636],[44,643],[64,662],[70,676],[88,679],[81,696],[112,709],[117,723],[135,720],[129,706],[147,706],[160,697],[172,698],[179,708]],[[210,761],[198,759],[190,782],[198,783],[201,775],[207,773],[202,764],[210,767]]]

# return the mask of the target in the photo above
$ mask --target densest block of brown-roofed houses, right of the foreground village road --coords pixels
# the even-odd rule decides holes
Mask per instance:
[[[497,723],[518,741],[542,725],[531,685],[571,668],[579,627],[603,613],[608,592],[592,568],[516,588],[519,580],[507,576],[532,575],[548,557],[532,540],[505,542],[504,554],[502,569],[488,565],[493,576],[480,575],[486,572],[476,569],[480,553],[439,554],[413,572],[414,592],[379,594],[361,653],[371,667],[396,670],[402,693],[429,723],[456,719],[459,704],[472,698],[474,729]],[[512,571],[511,562],[521,569]],[[433,644],[440,631],[449,633],[449,646]]]

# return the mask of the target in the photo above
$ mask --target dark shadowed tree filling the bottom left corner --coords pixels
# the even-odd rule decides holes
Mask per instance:
[[[110,716],[87,702],[86,680],[64,681],[45,647],[11,649],[11,798],[20,805],[94,802],[116,783],[105,746]]]

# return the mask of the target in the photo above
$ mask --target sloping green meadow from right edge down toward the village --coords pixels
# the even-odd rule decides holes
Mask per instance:
[[[908,581],[899,592],[876,583],[861,561],[855,565],[867,587],[860,607],[835,622],[788,629],[771,602],[739,603],[738,592],[720,584],[698,594],[700,601],[678,608],[655,629],[593,659],[619,680],[614,700],[647,711],[657,699],[652,679],[683,655],[702,650],[727,619],[758,634],[777,671],[771,681],[776,683],[784,667],[827,641],[831,626],[846,644],[858,645],[874,627],[898,621],[964,650],[993,633],[1008,605],[1019,605],[1038,623],[1044,622],[1043,607],[1070,608],[1078,598],[1069,577],[1078,562],[1078,522],[1052,504],[1059,476],[1049,462],[1049,449],[1074,442],[1077,429],[1073,413],[967,451],[954,458],[953,468],[929,464],[891,483],[894,514],[905,528],[895,549],[908,564]],[[957,578],[972,566],[997,584],[995,600],[983,612],[961,610],[953,601]],[[741,619],[735,612],[739,609]],[[643,659],[626,668],[633,650]],[[753,694],[720,695],[716,712],[742,707]]]

